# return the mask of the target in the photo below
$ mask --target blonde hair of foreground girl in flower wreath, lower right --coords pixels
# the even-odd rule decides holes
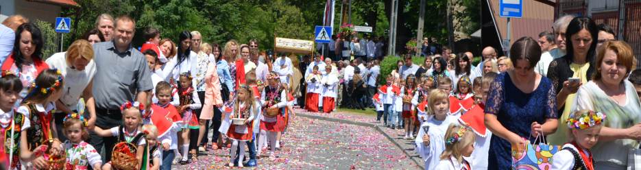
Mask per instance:
[[[459,141],[451,143],[450,145],[445,145],[445,151],[441,154],[442,160],[449,159],[450,156],[454,156],[454,158],[457,158],[457,161],[461,163],[463,162],[463,154],[461,153],[463,149],[469,145],[474,145],[476,136],[474,136],[474,132],[472,132],[470,127],[456,124],[450,124],[448,127],[448,130],[445,132],[445,141],[448,141],[448,138],[452,138],[457,134],[461,128],[465,128],[467,130],[463,133],[463,136],[459,136]]]

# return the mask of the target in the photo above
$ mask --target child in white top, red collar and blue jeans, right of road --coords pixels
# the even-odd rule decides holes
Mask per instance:
[[[383,114],[383,121],[385,121],[385,126],[392,127],[394,122],[396,122],[396,112],[394,112],[394,100],[398,95],[400,95],[400,88],[394,85],[394,77],[387,76],[387,84],[380,86],[378,88],[378,93],[382,94],[381,100],[383,100],[383,109],[385,114]]]

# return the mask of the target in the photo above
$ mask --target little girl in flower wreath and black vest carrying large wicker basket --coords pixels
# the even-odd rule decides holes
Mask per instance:
[[[120,106],[123,112],[123,125],[112,127],[108,130],[103,130],[100,127],[93,127],[93,132],[98,136],[108,137],[117,136],[120,142],[132,143],[136,145],[136,160],[138,160],[138,167],[143,160],[143,154],[147,141],[143,138],[143,132],[140,129],[143,123],[142,113],[145,112],[145,106],[134,101],[134,103],[127,101]],[[112,158],[113,160],[113,158]],[[106,162],[102,169],[113,169],[112,162]]]

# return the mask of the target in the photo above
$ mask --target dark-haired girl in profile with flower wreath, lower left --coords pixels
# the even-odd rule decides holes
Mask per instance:
[[[23,104],[17,112],[25,115],[29,119],[29,128],[21,131],[20,155],[22,165],[27,169],[42,169],[47,167],[47,162],[43,156],[43,149],[46,149],[47,141],[52,142],[53,156],[62,156],[62,147],[57,133],[51,130],[53,115],[51,111],[54,108],[54,101],[62,96],[62,74],[56,69],[45,70],[32,84],[29,93],[23,100]],[[25,120],[25,124],[27,121]],[[28,136],[28,138],[27,138]]]

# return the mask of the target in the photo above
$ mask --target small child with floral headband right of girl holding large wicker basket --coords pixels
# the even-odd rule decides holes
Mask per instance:
[[[158,145],[158,128],[156,125],[143,125],[143,133],[147,134],[147,148],[149,149],[149,169],[160,169],[160,145]]]

